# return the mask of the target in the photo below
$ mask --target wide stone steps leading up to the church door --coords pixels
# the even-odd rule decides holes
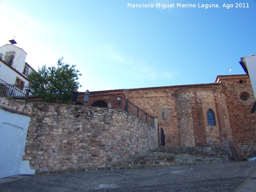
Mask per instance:
[[[145,167],[203,164],[224,162],[228,158],[220,158],[196,148],[159,146],[147,152],[139,152],[112,164],[112,169],[136,169]]]

